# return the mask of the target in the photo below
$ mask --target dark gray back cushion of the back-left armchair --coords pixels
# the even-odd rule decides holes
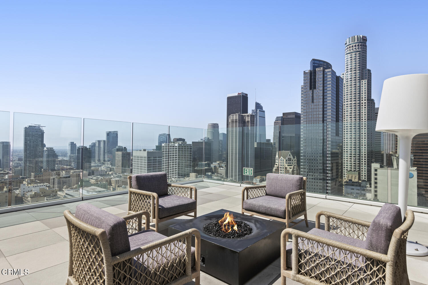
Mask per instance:
[[[168,178],[165,172],[135,174],[131,182],[133,189],[155,192],[158,196],[168,195]]]

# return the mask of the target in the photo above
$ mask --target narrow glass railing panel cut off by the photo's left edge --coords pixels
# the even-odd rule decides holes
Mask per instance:
[[[9,139],[10,113],[0,111],[0,208],[10,206],[11,148]],[[9,179],[10,178],[10,179]]]

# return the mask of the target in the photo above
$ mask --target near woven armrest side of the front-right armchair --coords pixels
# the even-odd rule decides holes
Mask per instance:
[[[286,264],[286,236],[292,235],[291,263]],[[296,229],[285,229],[281,234],[281,271],[291,267],[291,279],[323,279],[327,284],[337,282],[340,276],[348,284],[369,284],[385,279],[391,262],[386,254],[355,247],[328,238],[322,238]],[[389,264],[390,265],[390,264]],[[363,269],[367,274],[361,274]],[[394,268],[392,267],[392,270]],[[300,276],[297,276],[297,275]],[[358,280],[361,278],[361,280]]]

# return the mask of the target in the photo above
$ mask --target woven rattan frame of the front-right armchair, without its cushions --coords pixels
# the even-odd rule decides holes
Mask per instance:
[[[325,230],[364,241],[370,222],[330,212],[318,212],[315,226],[325,216]],[[281,234],[281,284],[286,278],[307,285],[408,285],[406,241],[414,214],[407,210],[404,223],[393,232],[387,254],[321,238],[296,229]],[[291,263],[286,264],[286,235],[292,235]],[[298,249],[306,247],[304,253]]]

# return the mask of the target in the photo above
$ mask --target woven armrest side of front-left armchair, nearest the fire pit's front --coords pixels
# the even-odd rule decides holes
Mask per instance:
[[[185,232],[113,256],[113,276],[121,276],[120,281],[125,284],[127,284],[125,281],[128,280],[137,281],[135,284],[143,284],[143,281],[158,278],[159,272],[165,270],[168,274],[164,276],[171,276],[169,278],[173,280],[185,276],[190,281],[192,278],[192,235],[195,236],[195,271],[199,272],[201,235],[197,229],[188,229]],[[135,272],[142,271],[142,266],[150,268],[154,264],[156,270],[147,270],[140,276],[135,276]],[[168,280],[168,282],[173,280]]]

